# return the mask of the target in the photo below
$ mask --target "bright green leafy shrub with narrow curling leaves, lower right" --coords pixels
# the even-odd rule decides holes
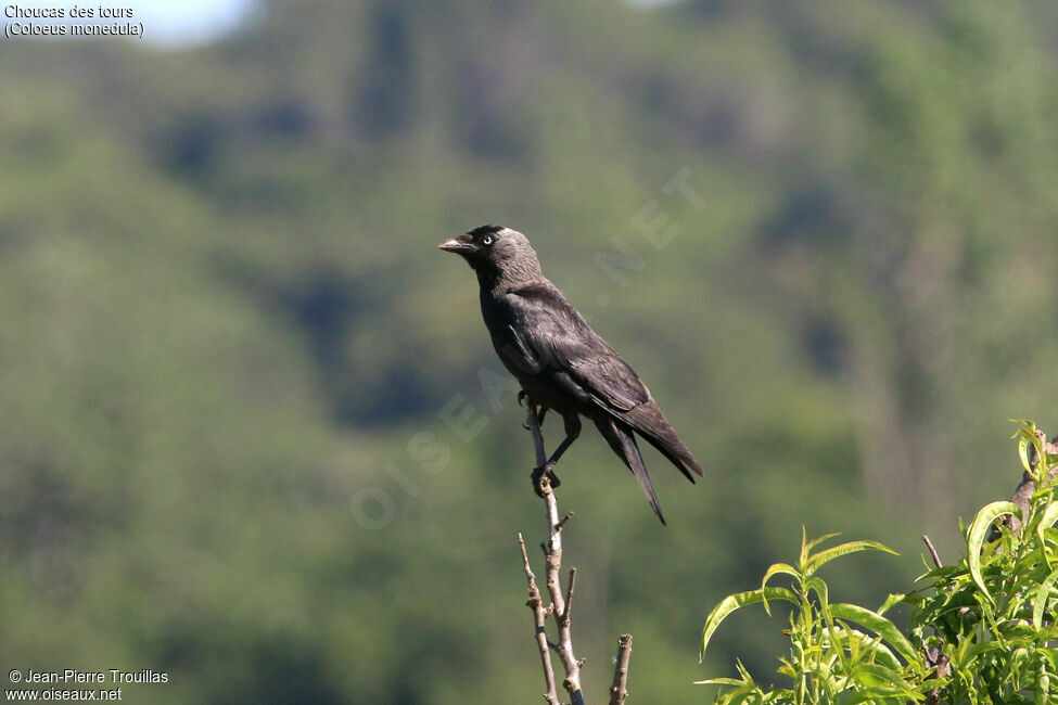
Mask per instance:
[[[923,586],[891,594],[877,611],[831,603],[817,572],[829,561],[864,550],[890,551],[875,541],[823,549],[836,535],[802,535],[796,565],[776,563],[761,587],[728,595],[710,613],[702,654],[721,623],[739,607],[792,605],[790,652],[780,657],[782,687],[764,689],[739,662],[739,678],[721,685],[715,703],[1048,703],[1058,702],[1058,456],[1035,424],[1016,434],[1027,478],[1034,484],[1028,512],[1014,502],[982,508],[957,565],[920,576]],[[1017,517],[1018,522],[1002,521]],[[789,587],[769,585],[787,578]],[[906,629],[885,617],[895,604],[912,606]]]

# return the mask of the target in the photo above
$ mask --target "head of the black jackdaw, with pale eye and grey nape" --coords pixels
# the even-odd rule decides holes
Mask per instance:
[[[482,281],[533,281],[543,277],[528,239],[502,226],[480,226],[437,245],[467,260]]]

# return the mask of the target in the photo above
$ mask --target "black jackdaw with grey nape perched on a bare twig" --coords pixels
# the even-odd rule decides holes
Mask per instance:
[[[519,398],[524,395],[531,408],[539,408],[540,420],[550,409],[565,423],[565,439],[534,471],[534,483],[548,474],[558,485],[555,464],[581,434],[583,415],[595,422],[665,524],[634,432],[692,483],[690,471],[701,475],[702,466],[676,437],[635,371],[544,277],[525,235],[489,225],[437,246],[462,256],[477,274],[485,326],[499,359],[522,385]]]

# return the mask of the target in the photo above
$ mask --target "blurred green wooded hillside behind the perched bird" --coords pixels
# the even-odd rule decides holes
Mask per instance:
[[[901,551],[825,576],[879,604],[1009,496],[1006,419],[1058,425],[1056,57],[1042,0],[273,0],[194,47],[0,43],[0,665],[540,702],[532,444],[435,248],[499,222],[706,467],[645,450],[664,529],[596,434],[563,459],[589,696],[624,631],[635,702],[736,654],[768,682],[781,617],[698,637],[802,524]]]

